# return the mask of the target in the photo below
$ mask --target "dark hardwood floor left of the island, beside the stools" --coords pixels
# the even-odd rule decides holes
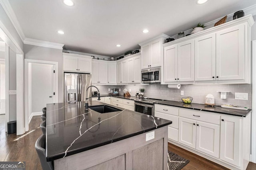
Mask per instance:
[[[15,133],[5,132],[4,115],[0,115],[0,161],[25,161],[26,170],[42,170],[35,149],[36,140],[42,135],[41,129],[38,128],[40,123],[40,116],[33,116],[29,131],[24,135],[16,136]],[[17,138],[19,139],[14,141]]]

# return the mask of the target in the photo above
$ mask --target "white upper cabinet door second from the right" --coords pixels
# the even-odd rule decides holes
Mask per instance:
[[[195,39],[195,81],[216,80],[216,34]]]

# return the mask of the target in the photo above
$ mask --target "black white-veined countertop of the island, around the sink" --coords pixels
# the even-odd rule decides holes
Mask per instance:
[[[98,113],[90,108],[86,111],[84,103],[47,104],[47,161],[107,145],[172,123],[122,108],[119,108],[121,111],[110,113]],[[102,104],[92,101],[89,106]]]

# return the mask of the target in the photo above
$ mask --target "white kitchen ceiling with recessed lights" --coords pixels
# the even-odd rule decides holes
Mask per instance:
[[[9,0],[26,38],[65,44],[64,49],[118,57],[138,43],[172,36],[256,4],[255,0]],[[142,33],[143,29],[149,33]],[[65,32],[60,35],[57,31]],[[117,44],[122,45],[116,47]]]

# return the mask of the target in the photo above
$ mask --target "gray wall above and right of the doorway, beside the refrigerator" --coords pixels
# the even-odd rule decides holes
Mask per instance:
[[[24,58],[58,62],[58,102],[63,102],[62,50],[25,44]]]

